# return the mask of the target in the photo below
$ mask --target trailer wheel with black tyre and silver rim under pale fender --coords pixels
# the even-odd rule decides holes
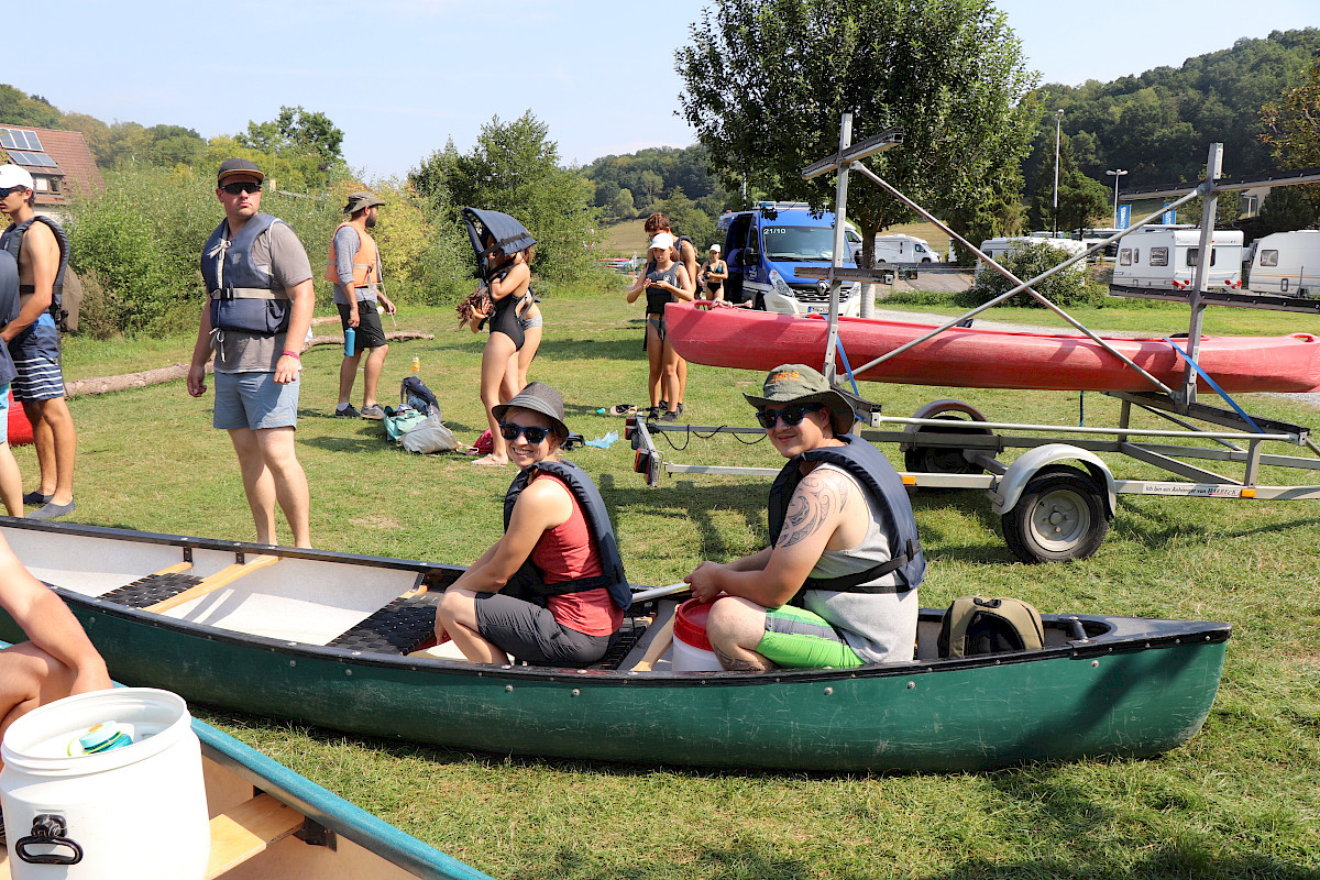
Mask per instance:
[[[1041,468],[1002,524],[1005,544],[1028,563],[1085,559],[1109,534],[1100,486],[1067,464]]]

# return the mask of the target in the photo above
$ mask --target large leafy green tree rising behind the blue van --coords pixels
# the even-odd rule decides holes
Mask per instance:
[[[903,146],[867,165],[965,224],[966,204],[1015,197],[1036,106],[1022,45],[989,0],[715,0],[677,51],[684,116],[730,191],[746,182],[822,207],[832,189],[800,169],[890,127]],[[849,216],[863,252],[911,211],[858,178]],[[964,228],[968,228],[964,226]]]

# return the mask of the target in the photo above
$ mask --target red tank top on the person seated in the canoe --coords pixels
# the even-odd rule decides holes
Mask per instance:
[[[558,480],[564,486],[564,482],[553,474],[537,474],[536,479]],[[573,497],[566,486],[565,489]],[[532,548],[531,558],[532,565],[540,569],[545,583],[595,578],[603,573],[601,554],[595,549],[586,516],[576,497],[573,497],[573,515],[561,525],[541,533],[540,541]],[[546,607],[562,625],[589,636],[609,636],[623,623],[623,611],[614,604],[610,591],[605,587],[549,596]]]

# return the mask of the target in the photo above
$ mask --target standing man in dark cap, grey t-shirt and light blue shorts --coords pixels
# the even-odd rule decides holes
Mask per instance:
[[[308,478],[293,433],[298,371],[315,293],[312,264],[282,220],[261,214],[265,175],[247,160],[220,164],[215,197],[224,222],[202,249],[207,301],[202,309],[187,393],[206,393],[215,356],[214,426],[230,433],[243,474],[257,542],[276,544],[280,503],[293,544],[312,546]]]

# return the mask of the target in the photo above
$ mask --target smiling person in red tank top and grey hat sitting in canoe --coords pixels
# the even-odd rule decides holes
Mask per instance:
[[[631,588],[601,493],[560,458],[564,401],[532,383],[494,414],[521,470],[504,496],[504,534],[441,596],[436,637],[479,664],[506,664],[506,653],[535,665],[595,662]]]

